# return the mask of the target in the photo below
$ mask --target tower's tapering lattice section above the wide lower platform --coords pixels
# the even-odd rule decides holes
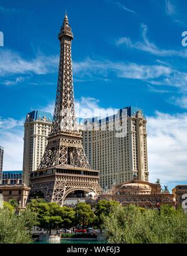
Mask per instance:
[[[82,135],[75,117],[71,56],[73,34],[71,31],[65,16],[59,34],[60,62],[54,117],[47,148],[39,169],[62,165],[90,169],[82,146]]]

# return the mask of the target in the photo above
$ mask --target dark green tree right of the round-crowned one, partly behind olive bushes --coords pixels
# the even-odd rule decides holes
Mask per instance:
[[[96,215],[96,218],[95,218],[95,225],[99,228],[102,227],[102,224],[103,224],[103,220],[102,220],[102,217],[105,215],[109,215],[111,210],[112,210],[112,207],[115,207],[119,205],[118,202],[116,201],[108,201],[108,200],[99,200],[96,207],[95,207],[95,215]]]

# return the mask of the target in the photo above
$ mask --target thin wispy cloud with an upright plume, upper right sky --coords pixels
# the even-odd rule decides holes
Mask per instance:
[[[150,42],[147,37],[147,31],[148,27],[145,24],[141,24],[141,36],[143,41],[137,41],[132,42],[132,40],[129,37],[120,37],[115,41],[115,44],[117,46],[125,45],[127,47],[131,47],[133,49],[138,49],[140,51],[148,52],[150,54],[156,55],[156,56],[180,56],[180,57],[187,57],[187,50],[166,50],[166,49],[160,49],[158,46],[156,46],[153,42]]]

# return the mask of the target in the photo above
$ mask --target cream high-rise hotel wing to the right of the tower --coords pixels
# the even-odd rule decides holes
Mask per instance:
[[[92,169],[100,170],[100,185],[111,189],[112,184],[119,184],[133,179],[148,182],[148,160],[146,144],[146,119],[135,107],[120,109],[127,112],[127,134],[117,137],[115,130],[110,130],[115,116],[97,120],[98,130],[83,130],[83,145]],[[92,127],[95,118],[87,119],[84,124]],[[102,127],[105,129],[102,130]]]

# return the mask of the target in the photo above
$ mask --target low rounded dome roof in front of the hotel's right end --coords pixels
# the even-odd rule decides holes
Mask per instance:
[[[120,190],[125,192],[125,194],[151,194],[150,185],[141,183],[123,184]]]

